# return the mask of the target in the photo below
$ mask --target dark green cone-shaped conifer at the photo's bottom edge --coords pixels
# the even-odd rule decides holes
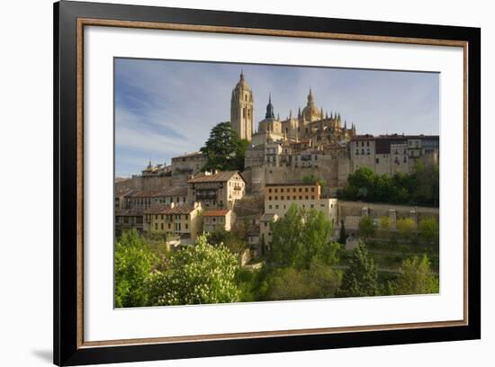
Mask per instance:
[[[342,277],[339,297],[366,297],[380,294],[378,273],[373,258],[363,242],[354,250],[350,264]]]

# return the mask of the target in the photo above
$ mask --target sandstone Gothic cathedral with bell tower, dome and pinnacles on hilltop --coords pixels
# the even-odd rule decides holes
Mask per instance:
[[[253,92],[247,85],[244,73],[241,72],[238,84],[232,90],[230,122],[238,136],[249,140],[252,146],[275,141],[306,140],[309,142],[309,148],[324,149],[347,142],[356,135],[354,123],[347,127],[347,121],[342,121],[340,113],[324,114],[323,108],[318,109],[311,88],[306,106],[302,110],[299,108],[297,116],[293,116],[291,111],[284,120],[281,120],[278,115],[275,117],[275,108],[270,94],[265,119],[258,122],[256,131],[253,118]]]

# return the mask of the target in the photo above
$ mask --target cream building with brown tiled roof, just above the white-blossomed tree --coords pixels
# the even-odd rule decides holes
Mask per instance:
[[[202,232],[202,207],[199,202],[193,205],[175,205],[145,210],[144,230],[166,234],[173,233],[191,243]]]

